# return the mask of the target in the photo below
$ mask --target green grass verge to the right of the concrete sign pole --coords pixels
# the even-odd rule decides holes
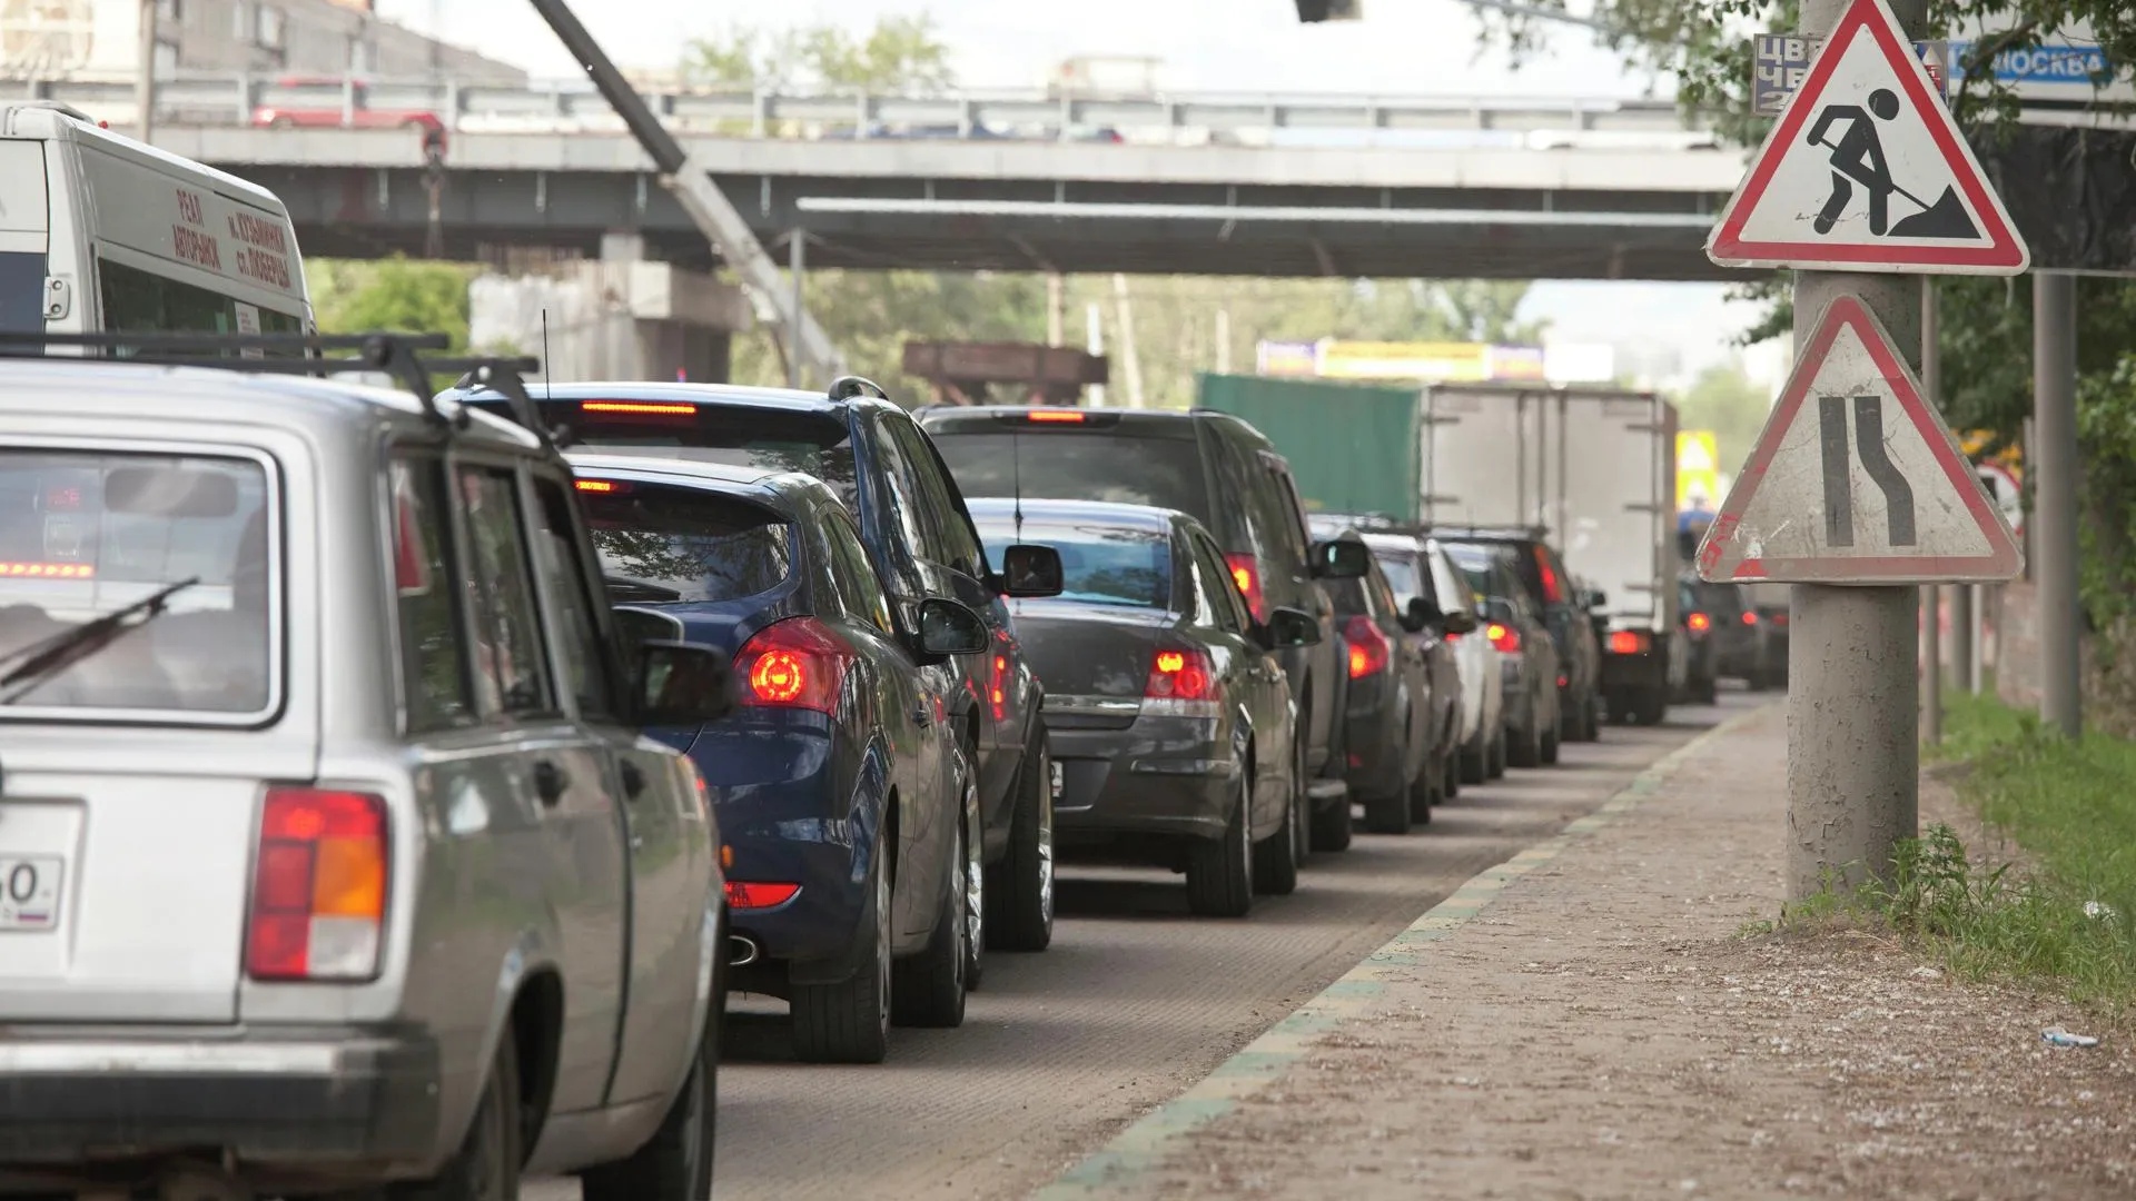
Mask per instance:
[[[2136,1007],[2136,742],[2066,739],[1993,697],[1952,692],[1933,759],[1963,765],[1959,797],[2023,848],[2023,868],[1976,861],[1935,825],[1899,846],[1890,880],[1809,898],[1777,925],[1878,921],[1967,977]]]

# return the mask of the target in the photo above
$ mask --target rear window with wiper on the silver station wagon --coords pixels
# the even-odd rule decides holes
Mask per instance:
[[[0,705],[263,714],[273,705],[267,472],[239,457],[0,451]],[[38,658],[167,592],[75,662]]]

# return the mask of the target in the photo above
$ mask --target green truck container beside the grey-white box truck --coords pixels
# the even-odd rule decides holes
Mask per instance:
[[[1203,408],[1241,417],[1275,442],[1314,513],[1418,519],[1416,387],[1203,374],[1196,393]]]

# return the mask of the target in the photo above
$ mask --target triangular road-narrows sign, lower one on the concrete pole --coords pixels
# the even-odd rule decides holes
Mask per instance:
[[[1835,299],[1698,545],[1700,579],[1991,583],[2021,566],[1884,323]]]

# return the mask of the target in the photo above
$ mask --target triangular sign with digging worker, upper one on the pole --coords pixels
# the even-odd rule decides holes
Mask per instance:
[[[1854,0],[1707,237],[1722,267],[2016,276],[2031,250],[1884,0]]]

